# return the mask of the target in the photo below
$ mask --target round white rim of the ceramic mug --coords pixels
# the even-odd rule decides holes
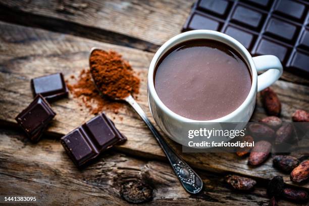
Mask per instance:
[[[245,98],[245,100],[242,102],[242,104],[236,108],[233,112],[217,118],[217,119],[213,119],[213,120],[193,120],[193,119],[189,119],[186,117],[183,117],[181,115],[178,115],[177,113],[173,112],[172,110],[170,110],[160,99],[160,97],[157,94],[157,91],[155,89],[155,83],[154,83],[154,78],[155,78],[155,69],[156,69],[156,65],[159,62],[160,58],[166,53],[168,52],[168,50],[181,43],[184,41],[188,41],[188,40],[193,40],[193,39],[203,39],[203,37],[200,37],[200,35],[205,35],[204,39],[212,39],[212,40],[217,40],[220,41],[218,39],[214,39],[214,36],[218,36],[221,39],[227,40],[227,42],[223,42],[224,44],[227,44],[228,46],[234,48],[236,50],[236,52],[242,56],[242,58],[244,59],[244,61],[247,63],[247,66],[249,67],[249,70],[251,72],[251,77],[252,77],[252,82],[251,82],[251,88],[250,91],[247,95],[247,97]],[[192,36],[189,39],[185,39],[185,40],[179,40],[183,37],[186,36]],[[197,38],[194,38],[194,36],[198,36]],[[241,52],[239,52],[241,51]],[[253,97],[256,95],[257,92],[257,86],[258,86],[258,73],[256,72],[256,68],[253,62],[253,59],[250,55],[250,53],[248,52],[248,50],[236,39],[234,39],[233,37],[218,32],[218,31],[213,31],[213,30],[193,30],[193,31],[187,31],[181,34],[178,34],[172,38],[170,38],[168,41],[166,41],[156,52],[155,56],[153,56],[150,65],[149,65],[149,69],[148,69],[148,75],[147,75],[147,84],[148,84],[148,92],[151,93],[153,99],[155,100],[156,104],[158,105],[158,107],[160,107],[161,110],[163,110],[166,114],[168,114],[169,116],[173,117],[174,119],[177,119],[179,121],[182,122],[226,122],[227,120],[230,120],[231,118],[235,117],[238,113],[240,113],[244,108],[246,108],[246,106],[248,106],[250,104],[250,101],[253,99]],[[149,95],[149,94],[148,94]],[[149,98],[148,98],[149,99]]]

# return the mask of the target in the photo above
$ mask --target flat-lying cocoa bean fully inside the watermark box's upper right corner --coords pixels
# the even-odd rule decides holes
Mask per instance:
[[[275,131],[265,124],[251,123],[248,129],[254,138],[272,139],[275,136]]]

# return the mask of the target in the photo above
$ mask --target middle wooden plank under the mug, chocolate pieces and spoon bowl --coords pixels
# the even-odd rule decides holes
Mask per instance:
[[[63,72],[66,79],[70,79],[71,75],[78,75],[83,68],[88,67],[88,51],[92,46],[116,50],[130,62],[136,72],[140,72],[142,82],[137,101],[152,120],[146,96],[146,73],[152,53],[6,23],[0,23],[0,32],[0,96],[2,97],[0,120],[2,122],[16,125],[14,118],[33,98],[30,90],[31,78],[55,72]],[[277,81],[273,88],[282,102],[284,121],[291,121],[291,114],[296,109],[308,108],[309,87]],[[89,115],[85,108],[81,111],[79,102],[71,96],[54,102],[52,108],[58,115],[47,133],[62,136],[89,120],[92,115]],[[165,160],[155,138],[129,106],[125,106],[118,115],[108,111],[107,114],[115,118],[116,126],[128,137],[128,141],[117,149],[132,155]],[[265,116],[261,102],[258,101],[252,120],[257,121]],[[237,158],[233,153],[182,153],[180,145],[169,138],[166,140],[195,168],[223,173],[234,172],[262,179],[281,174],[272,167],[271,159],[260,167],[251,168],[247,165],[246,158]],[[287,175],[284,178],[287,183],[291,183]],[[300,186],[309,187],[308,184]]]

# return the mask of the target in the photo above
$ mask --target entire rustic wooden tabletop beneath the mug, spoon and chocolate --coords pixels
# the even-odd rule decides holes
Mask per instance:
[[[70,96],[52,104],[58,114],[42,140],[33,144],[18,129],[15,116],[32,99],[30,79],[62,72],[66,79],[88,66],[93,46],[114,49],[128,60],[142,79],[138,102],[147,105],[146,74],[158,47],[180,33],[193,1],[0,1],[0,195],[36,195],[45,204],[127,204],[121,198],[124,182],[145,182],[153,189],[148,204],[267,205],[266,185],[275,175],[289,176],[264,165],[251,168],[233,153],[181,153],[166,140],[204,182],[198,195],[184,191],[163,151],[137,114],[124,107],[106,111],[128,141],[100,156],[80,171],[66,155],[59,138],[92,115],[80,110]],[[296,109],[309,108],[309,80],[284,72],[272,88],[282,102],[282,119],[291,121]],[[259,99],[259,98],[258,98]],[[252,121],[265,117],[258,100]],[[151,119],[152,121],[152,119]],[[225,174],[253,177],[251,193],[227,188]],[[308,189],[309,184],[294,185]],[[280,201],[284,205],[292,203]]]

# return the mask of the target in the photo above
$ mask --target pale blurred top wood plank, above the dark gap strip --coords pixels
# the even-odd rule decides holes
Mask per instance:
[[[161,45],[178,34],[194,0],[2,1],[15,11],[74,22]]]

